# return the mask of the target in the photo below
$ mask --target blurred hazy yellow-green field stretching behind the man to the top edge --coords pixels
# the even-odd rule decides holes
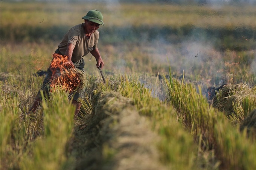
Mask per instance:
[[[1,1],[1,72],[46,70],[90,9],[104,16],[99,50],[109,74],[168,74],[170,64],[207,86],[256,84],[254,1]],[[97,74],[90,57],[85,70]]]

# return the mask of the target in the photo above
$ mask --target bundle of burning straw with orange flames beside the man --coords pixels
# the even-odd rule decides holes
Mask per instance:
[[[85,74],[68,62],[68,56],[54,53],[50,69],[52,71],[51,87],[61,86],[69,92],[84,88]]]

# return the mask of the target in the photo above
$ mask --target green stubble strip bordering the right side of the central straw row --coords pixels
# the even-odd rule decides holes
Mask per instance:
[[[151,96],[149,89],[131,77],[123,77],[118,91],[132,98],[139,113],[149,116],[154,129],[160,134],[158,148],[164,164],[174,169],[191,169],[197,166],[196,146],[191,136],[176,122],[175,111]]]

